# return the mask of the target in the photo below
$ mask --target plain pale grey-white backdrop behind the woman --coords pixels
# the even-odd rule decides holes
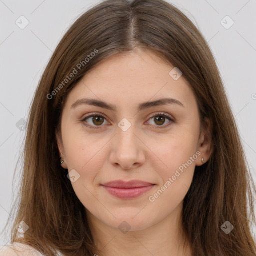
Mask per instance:
[[[27,120],[39,78],[61,37],[81,13],[99,2],[0,0],[0,231],[20,182],[13,174],[24,131],[16,123]],[[256,179],[256,0],[169,2],[194,22],[213,51]],[[29,21],[24,29],[15,24],[21,15]],[[226,15],[234,21],[229,29],[220,23]],[[231,24],[226,18],[223,22]],[[0,244],[8,242],[9,237],[0,236]]]

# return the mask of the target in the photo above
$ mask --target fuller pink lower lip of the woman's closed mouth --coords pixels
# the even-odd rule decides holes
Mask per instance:
[[[143,187],[133,187],[133,188],[116,188],[102,185],[108,193],[111,195],[122,198],[122,199],[132,199],[136,198],[147,191],[149,191],[154,185],[143,186]]]

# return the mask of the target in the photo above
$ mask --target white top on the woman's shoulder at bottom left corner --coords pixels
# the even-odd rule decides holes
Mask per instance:
[[[14,249],[13,249],[14,248]],[[0,247],[0,256],[44,256],[38,250],[24,243],[14,242]],[[57,256],[64,256],[58,251]]]

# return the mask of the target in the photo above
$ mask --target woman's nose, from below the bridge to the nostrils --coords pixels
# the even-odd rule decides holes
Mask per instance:
[[[126,131],[119,127],[116,128],[116,134],[111,141],[109,158],[111,164],[131,170],[145,162],[145,145],[137,133],[134,124]]]

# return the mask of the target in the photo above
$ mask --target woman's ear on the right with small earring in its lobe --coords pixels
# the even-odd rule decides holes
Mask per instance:
[[[200,157],[198,157],[195,161],[196,166],[201,166],[205,162],[208,161],[208,159],[211,156],[212,153],[212,123],[209,120],[209,118],[205,117],[203,124],[202,124],[202,131],[198,140],[197,145],[197,151],[201,153]],[[203,162],[201,162],[201,159],[203,158]]]

